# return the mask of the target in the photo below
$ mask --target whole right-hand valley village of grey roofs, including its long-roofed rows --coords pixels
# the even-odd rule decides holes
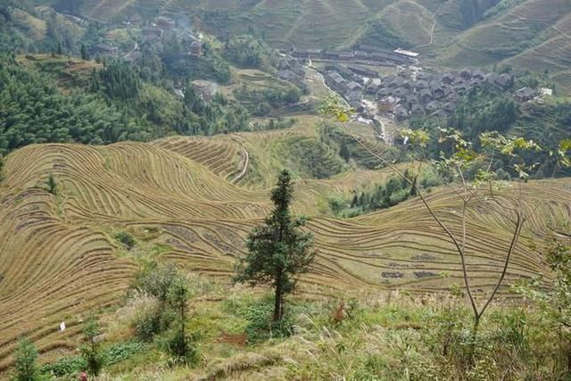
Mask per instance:
[[[386,122],[401,122],[414,116],[444,118],[457,108],[461,98],[473,88],[493,87],[513,94],[517,102],[542,102],[552,89],[522,87],[514,89],[514,75],[482,69],[429,71],[420,66],[420,54],[403,49],[387,50],[358,46],[358,50],[331,52],[304,49],[289,53],[298,66],[309,65],[319,71],[324,83],[340,95],[355,112],[354,120],[375,124],[378,135],[388,143],[401,139],[385,136]],[[294,67],[294,65],[290,65]],[[382,75],[379,68],[393,69]],[[282,79],[300,80],[299,69],[280,70]]]

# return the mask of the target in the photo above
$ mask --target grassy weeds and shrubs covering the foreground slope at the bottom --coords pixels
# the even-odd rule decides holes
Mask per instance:
[[[202,277],[186,279],[194,292],[188,299],[193,306],[186,319],[188,332],[200,332],[186,335],[191,339],[186,343],[200,347],[201,361],[194,366],[175,363],[170,352],[162,350],[162,344],[180,332],[174,317],[175,324],[148,344],[120,344],[115,352],[121,356],[110,354],[111,343],[104,343],[105,359],[114,360],[105,360],[101,379],[569,379],[556,363],[559,332],[550,329],[549,316],[533,303],[494,305],[476,342],[471,341],[469,306],[454,290],[430,295],[392,292],[390,298],[343,295],[328,301],[293,297],[285,310],[287,327],[280,331],[270,325],[272,295]],[[119,327],[112,327],[106,337],[126,340],[116,332],[133,327],[137,311],[149,302],[148,294],[131,296],[115,315],[125,319],[113,319]],[[244,340],[226,340],[235,337]],[[475,352],[468,367],[472,345]],[[60,361],[60,368],[66,364]]]

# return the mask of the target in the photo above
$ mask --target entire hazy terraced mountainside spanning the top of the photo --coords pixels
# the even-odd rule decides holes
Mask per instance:
[[[79,11],[113,22],[189,17],[219,37],[253,27],[287,48],[409,47],[436,67],[510,63],[549,70],[562,90],[571,87],[567,0],[83,0]]]

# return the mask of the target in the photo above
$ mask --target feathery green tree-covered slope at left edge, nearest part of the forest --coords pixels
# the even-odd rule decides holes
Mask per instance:
[[[0,63],[0,153],[35,143],[101,145],[153,137],[151,128],[131,123],[97,95],[64,95],[49,75],[13,55],[1,55]]]

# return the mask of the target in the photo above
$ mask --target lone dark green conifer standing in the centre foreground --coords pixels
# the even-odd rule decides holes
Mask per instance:
[[[284,294],[294,290],[297,277],[309,270],[315,257],[313,235],[301,230],[305,219],[291,214],[293,198],[291,174],[283,170],[271,192],[273,211],[248,236],[248,253],[236,263],[236,282],[250,286],[270,284],[274,288],[273,321],[282,319]]]

